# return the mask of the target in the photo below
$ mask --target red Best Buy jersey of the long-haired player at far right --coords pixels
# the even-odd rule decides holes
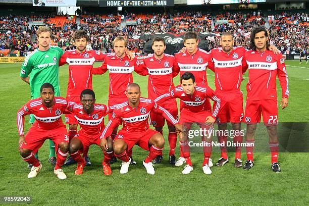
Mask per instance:
[[[290,92],[288,76],[281,53],[275,55],[270,50],[263,53],[249,50],[244,57],[249,70],[247,100],[277,98],[277,75],[282,88],[282,97],[288,98]]]

